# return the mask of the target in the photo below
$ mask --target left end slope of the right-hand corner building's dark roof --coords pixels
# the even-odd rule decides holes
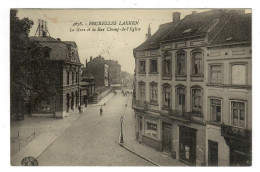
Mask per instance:
[[[165,23],[159,26],[159,29],[144,43],[136,48],[136,50],[144,50],[144,49],[157,49],[160,48],[160,42],[172,28],[174,28],[175,23]]]

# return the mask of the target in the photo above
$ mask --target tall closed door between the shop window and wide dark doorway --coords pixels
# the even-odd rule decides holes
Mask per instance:
[[[163,123],[162,124],[162,149],[166,153],[171,152],[171,124]]]

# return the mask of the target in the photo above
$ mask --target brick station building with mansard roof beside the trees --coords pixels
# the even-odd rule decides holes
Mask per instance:
[[[56,90],[56,95],[49,97],[49,112],[55,117],[63,118],[79,106],[80,69],[81,63],[77,44],[73,41],[61,41],[46,34],[30,37],[31,41],[46,47],[45,56],[49,58],[50,72],[54,80],[50,87]]]

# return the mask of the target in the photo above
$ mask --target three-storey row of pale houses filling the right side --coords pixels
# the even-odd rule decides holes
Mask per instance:
[[[136,139],[188,165],[250,166],[251,14],[180,15],[133,50]]]

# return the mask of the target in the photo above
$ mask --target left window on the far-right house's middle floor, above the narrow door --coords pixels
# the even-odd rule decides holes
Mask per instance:
[[[210,121],[221,123],[221,100],[210,99]]]

